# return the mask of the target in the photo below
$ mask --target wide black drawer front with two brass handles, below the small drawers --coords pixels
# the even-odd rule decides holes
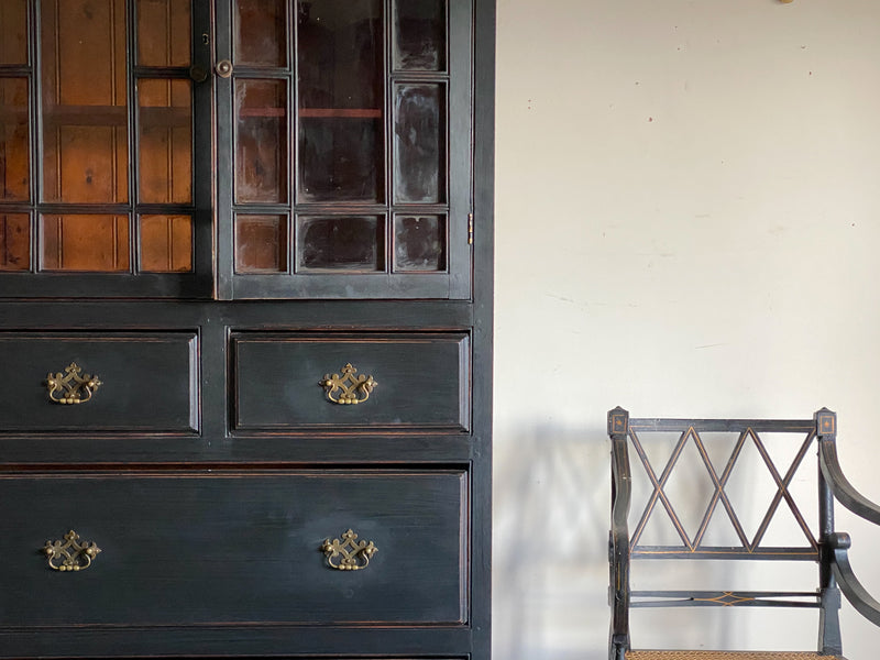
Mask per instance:
[[[463,470],[6,473],[0,631],[462,624],[468,499]],[[350,529],[375,552],[340,570]],[[100,552],[54,570],[70,530]]]

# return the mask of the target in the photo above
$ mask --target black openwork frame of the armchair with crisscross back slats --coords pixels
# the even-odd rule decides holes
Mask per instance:
[[[658,472],[648,460],[642,440],[648,441],[651,432],[670,431],[680,433],[680,437],[669,462],[663,466],[662,472]],[[738,433],[738,441],[730,459],[722,470],[715,469],[703,446],[701,433],[710,432]],[[770,459],[761,439],[762,433],[803,436],[800,451],[784,473],[780,473]],[[838,619],[840,592],[860,614],[880,626],[880,603],[868,594],[850,568],[847,556],[850,538],[847,534],[835,531],[834,501],[837,499],[856,515],[877,525],[880,525],[880,507],[860,495],[844,476],[837,460],[836,433],[837,416],[827,408],[818,410],[813,419],[807,420],[630,418],[629,413],[623,408],[610,410],[608,413],[608,435],[612,440],[612,529],[608,548],[610,568],[608,597],[612,607],[609,660],[625,660],[630,650],[630,607],[814,607],[820,610],[817,654],[837,658],[843,658]],[[696,446],[714,484],[714,494],[693,537],[684,530],[672,503],[663,491],[670,474],[676,466],[681,451],[688,442]],[[744,532],[737,513],[725,493],[725,484],[741,455],[740,450],[746,442],[755,443],[778,488],[767,516],[751,539]],[[816,473],[820,520],[817,535],[811,531],[789,490],[798,468],[814,443],[818,446]],[[631,531],[628,526],[632,479],[629,463],[630,447],[647,471],[653,487],[648,505]],[[761,541],[770,520],[783,501],[804,531],[806,546],[789,548],[762,546]],[[660,504],[659,507],[658,504]],[[648,518],[660,509],[664,510],[672,520],[681,538],[681,544],[644,546],[640,543],[641,532],[645,530]],[[713,547],[704,543],[704,535],[710,520],[719,509],[726,512],[741,541],[740,546]],[[651,558],[814,561],[818,564],[818,586],[815,591],[810,592],[631,591],[629,586],[630,561]]]

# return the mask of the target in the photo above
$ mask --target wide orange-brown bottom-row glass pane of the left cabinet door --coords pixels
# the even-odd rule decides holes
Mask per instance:
[[[41,224],[44,271],[129,270],[128,217],[42,216]]]

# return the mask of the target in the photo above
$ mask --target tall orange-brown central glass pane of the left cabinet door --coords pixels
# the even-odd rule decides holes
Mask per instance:
[[[125,3],[40,7],[44,200],[128,201]]]

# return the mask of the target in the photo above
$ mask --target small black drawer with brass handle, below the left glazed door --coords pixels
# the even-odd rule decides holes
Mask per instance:
[[[0,364],[3,432],[198,431],[195,332],[3,332]]]

